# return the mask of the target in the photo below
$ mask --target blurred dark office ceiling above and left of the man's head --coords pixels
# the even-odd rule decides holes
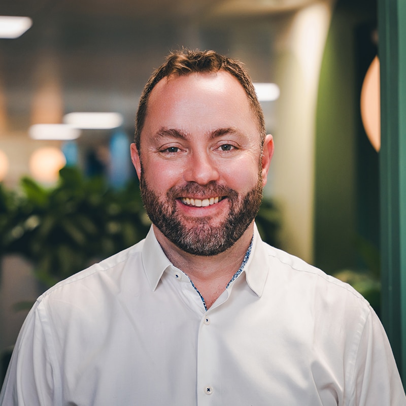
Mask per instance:
[[[254,48],[250,57],[266,60],[264,21],[313,2],[3,0],[0,15],[28,16],[33,25],[18,39],[0,39],[0,137],[72,111],[119,111],[131,127],[142,86],[168,51],[186,46],[239,56],[240,36]]]

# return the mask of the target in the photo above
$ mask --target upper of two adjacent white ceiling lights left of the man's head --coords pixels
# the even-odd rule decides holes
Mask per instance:
[[[110,129],[120,127],[123,116],[119,113],[69,113],[63,117],[63,122],[76,128]]]

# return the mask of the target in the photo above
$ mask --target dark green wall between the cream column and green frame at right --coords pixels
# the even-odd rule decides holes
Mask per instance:
[[[315,145],[314,262],[327,273],[365,267],[361,242],[379,242],[378,154],[362,128],[362,78],[375,56],[374,2],[333,11],[320,72]],[[365,251],[365,250],[364,250]]]

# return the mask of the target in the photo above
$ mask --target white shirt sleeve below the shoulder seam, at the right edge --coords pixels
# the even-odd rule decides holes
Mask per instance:
[[[406,406],[402,382],[385,330],[370,309],[355,361],[354,406]]]

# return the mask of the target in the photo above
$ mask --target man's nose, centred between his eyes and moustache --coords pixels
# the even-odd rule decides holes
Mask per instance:
[[[209,182],[219,179],[217,165],[207,152],[201,151],[191,154],[186,165],[184,172],[186,182],[207,185]]]

